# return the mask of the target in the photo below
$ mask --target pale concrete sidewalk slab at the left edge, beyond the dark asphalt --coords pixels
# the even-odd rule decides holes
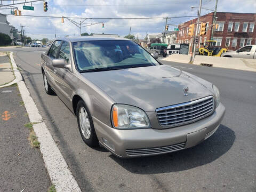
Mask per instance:
[[[10,83],[15,78],[9,57],[3,52],[0,52],[0,73],[0,85]]]

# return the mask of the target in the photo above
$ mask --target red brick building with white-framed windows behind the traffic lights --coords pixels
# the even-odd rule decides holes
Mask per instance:
[[[211,39],[211,31],[213,30],[213,14],[205,14],[200,17],[200,22],[207,23],[206,35],[202,35],[199,38],[199,43],[202,43]],[[244,45],[256,44],[256,14],[255,13],[226,13],[217,12],[217,24],[218,29],[214,30],[213,39],[217,41],[217,46],[226,47],[228,50],[237,50]],[[176,43],[188,43],[189,52],[191,52],[191,45],[193,38],[188,36],[188,28],[191,23],[196,23],[197,18],[181,23],[178,28],[179,33],[177,35]],[[200,24],[198,33],[200,30]],[[194,35],[196,31],[196,25],[194,29]],[[197,48],[199,47],[197,44]]]

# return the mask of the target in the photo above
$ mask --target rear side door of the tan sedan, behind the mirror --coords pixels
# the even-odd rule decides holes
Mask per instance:
[[[56,87],[54,78],[55,76],[55,67],[52,66],[52,60],[58,58],[58,53],[60,49],[61,41],[55,41],[53,42],[52,46],[50,47],[50,50],[47,53],[47,57],[45,57],[45,75],[47,78],[47,81],[50,83],[51,86],[53,86],[53,89]],[[55,90],[55,89],[54,89]]]

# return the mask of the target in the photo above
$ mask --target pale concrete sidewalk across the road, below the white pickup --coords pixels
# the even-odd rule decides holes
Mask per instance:
[[[189,63],[190,55],[172,54],[163,61]],[[225,58],[196,55],[193,65],[210,65],[212,67],[229,68],[256,72],[255,59]]]

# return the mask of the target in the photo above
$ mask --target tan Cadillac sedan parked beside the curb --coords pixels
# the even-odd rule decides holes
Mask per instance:
[[[216,86],[161,65],[129,39],[56,39],[41,64],[46,93],[76,115],[84,142],[118,157],[193,147],[225,114]]]

